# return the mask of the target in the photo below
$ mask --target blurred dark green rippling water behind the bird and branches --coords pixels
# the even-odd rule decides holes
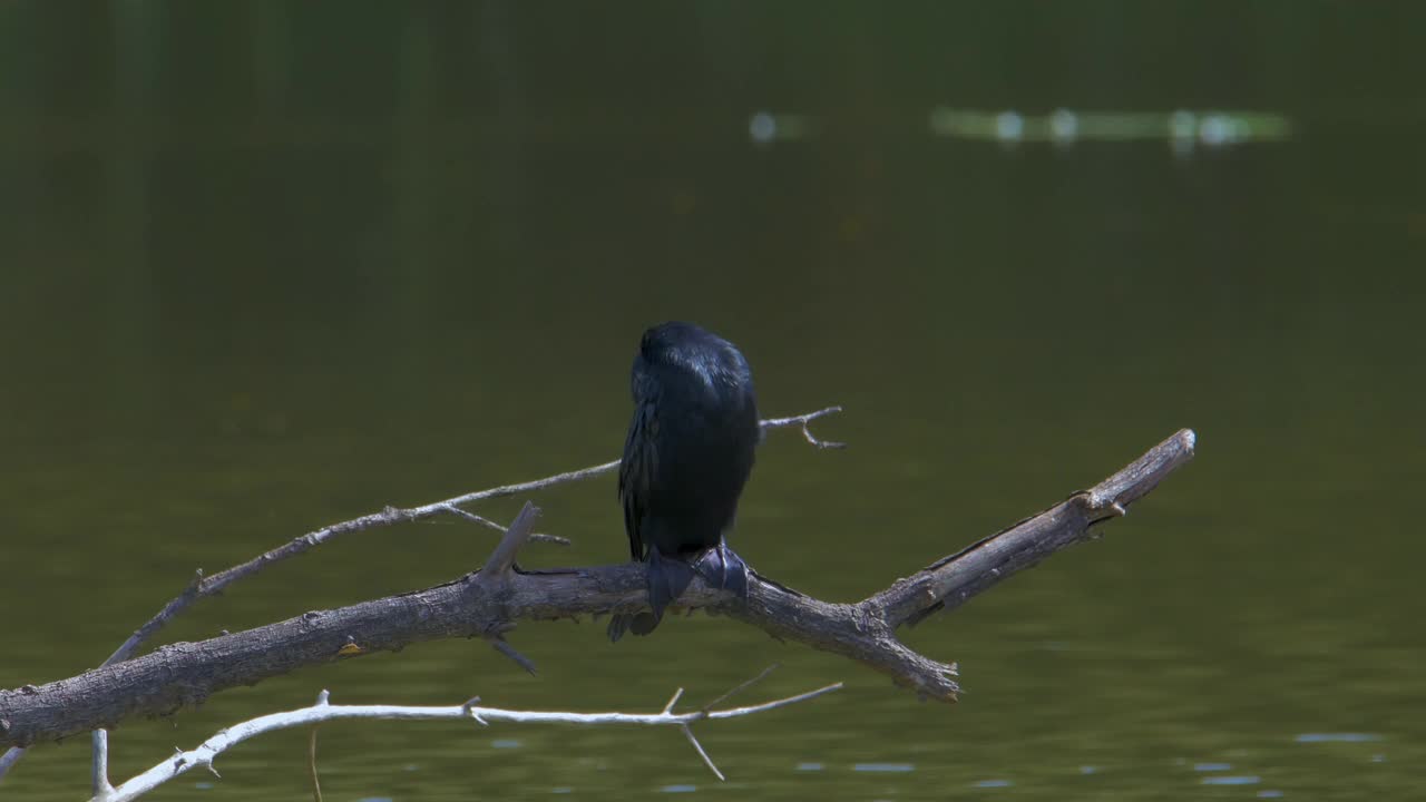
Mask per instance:
[[[677,732],[322,728],[331,799],[1402,798],[1419,619],[1426,7],[1416,3],[0,4],[0,686],[97,665],[324,524],[617,455],[640,331],[702,323],[776,432],[733,542],[853,601],[1119,468],[1105,538],[907,634],[955,706],[697,615],[525,624],[113,734],[116,779],[334,702],[653,711]],[[523,499],[478,509],[508,519]],[[612,477],[535,499],[626,558]],[[201,639],[476,567],[449,519],[207,601]],[[1415,601],[1413,601],[1415,599]],[[1417,612],[1412,612],[1412,611]],[[154,799],[307,793],[307,734]],[[87,739],[0,791],[74,799]]]

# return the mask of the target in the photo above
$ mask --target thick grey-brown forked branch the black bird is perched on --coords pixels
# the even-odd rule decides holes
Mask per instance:
[[[901,644],[896,629],[950,609],[1010,574],[1084,541],[1089,528],[1122,515],[1194,455],[1194,432],[1179,431],[1092,489],[953,554],[857,604],[823,602],[759,575],[747,599],[696,579],[679,599],[789,641],[840,654],[888,675],[923,696],[955,701],[955,665]],[[518,619],[556,619],[647,604],[640,564],[511,572],[482,581],[473,572],[445,585],[308,612],[279,624],[198,644],[173,644],[141,658],[36,688],[0,691],[0,745],[26,746],[133,715],[161,715],[234,685],[305,665],[394,651],[435,638],[488,636]]]

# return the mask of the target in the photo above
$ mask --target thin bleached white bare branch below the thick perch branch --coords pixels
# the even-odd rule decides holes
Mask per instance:
[[[267,732],[288,729],[294,726],[312,726],[327,721],[348,719],[348,718],[406,719],[406,721],[472,719],[478,724],[489,724],[489,722],[573,724],[585,726],[620,725],[620,724],[646,725],[646,726],[672,725],[683,729],[683,734],[689,736],[689,741],[693,742],[693,746],[697,749],[699,756],[703,758],[704,763],[707,763],[707,766],[713,769],[713,773],[717,775],[719,779],[723,779],[723,773],[717,771],[717,768],[709,759],[707,753],[703,751],[702,746],[699,746],[697,741],[693,738],[689,725],[700,721],[740,718],[777,708],[784,708],[787,705],[806,702],[809,699],[814,699],[824,694],[830,694],[833,691],[837,691],[838,688],[841,688],[841,682],[826,685],[823,688],[817,688],[816,691],[809,691],[806,694],[799,694],[796,696],[773,699],[770,702],[763,702],[760,705],[730,708],[723,711],[696,711],[690,714],[674,714],[672,711],[673,708],[672,702],[657,714],[620,714],[620,712],[576,714],[576,712],[559,712],[559,711],[509,711],[503,708],[476,706],[475,705],[476,699],[472,699],[463,705],[452,705],[452,706],[332,705],[328,702],[327,691],[322,691],[322,695],[318,698],[318,702],[309,708],[299,708],[295,711],[270,714],[222,729],[212,738],[200,743],[198,746],[188,751],[178,751],[174,756],[125,781],[120,786],[94,793],[90,802],[124,802],[127,799],[135,799],[158,788],[160,785],[168,782],[170,779],[174,779],[195,768],[205,768],[208,771],[214,771],[212,762],[224,751],[250,738],[255,738]],[[674,699],[677,699],[677,695],[674,695]]]

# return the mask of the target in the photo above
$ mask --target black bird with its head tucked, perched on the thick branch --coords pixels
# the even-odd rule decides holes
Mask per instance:
[[[723,539],[761,438],[753,372],[736,345],[690,323],[643,333],[633,418],[619,465],[629,551],[649,564],[653,612],[616,614],[609,638],[647,635],[697,572],[747,594],[747,565]]]

